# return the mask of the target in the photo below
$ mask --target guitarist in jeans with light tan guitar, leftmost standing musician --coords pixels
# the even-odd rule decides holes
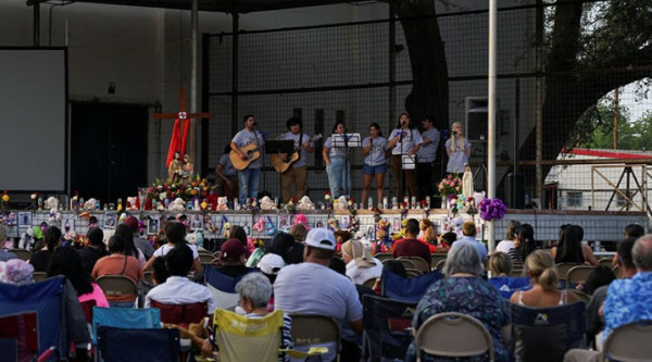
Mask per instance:
[[[244,129],[238,132],[231,139],[231,151],[229,158],[234,167],[238,170],[239,194],[241,204],[247,203],[248,198],[258,199],[259,183],[261,179],[261,150],[264,139],[253,115],[243,118]],[[239,155],[239,160],[238,160]]]

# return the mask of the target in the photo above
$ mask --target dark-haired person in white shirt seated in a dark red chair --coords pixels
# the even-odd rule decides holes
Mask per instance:
[[[165,304],[208,304],[209,314],[215,310],[215,299],[206,287],[188,279],[192,266],[192,251],[185,244],[174,247],[165,255],[170,277],[159,284],[145,297],[145,308],[150,308],[152,301]]]

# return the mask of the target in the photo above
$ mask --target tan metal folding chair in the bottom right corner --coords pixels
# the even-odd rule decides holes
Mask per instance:
[[[605,361],[643,362],[652,357],[652,321],[638,321],[613,329],[602,348]]]

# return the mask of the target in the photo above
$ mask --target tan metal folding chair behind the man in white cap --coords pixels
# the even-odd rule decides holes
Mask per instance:
[[[324,359],[326,361],[333,361],[334,358],[337,361],[340,360],[341,349],[341,330],[339,323],[325,315],[313,315],[313,314],[293,314],[292,317],[292,340],[294,342],[294,349],[308,350],[310,347],[324,345],[335,346],[334,351],[326,354]],[[329,349],[330,350],[330,349]]]

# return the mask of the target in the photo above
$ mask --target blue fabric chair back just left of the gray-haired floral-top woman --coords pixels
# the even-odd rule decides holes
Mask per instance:
[[[418,303],[432,283],[441,279],[441,272],[434,271],[428,274],[404,278],[387,269],[383,269],[383,296],[409,303]]]

